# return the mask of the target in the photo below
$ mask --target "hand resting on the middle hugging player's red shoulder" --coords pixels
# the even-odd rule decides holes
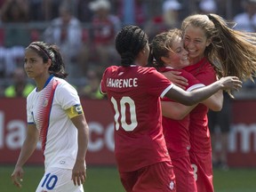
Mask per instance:
[[[188,86],[188,80],[185,77],[180,76],[180,74],[180,71],[174,70],[163,73],[163,75],[166,76],[166,78],[168,78],[172,82],[172,84],[175,84],[181,89],[185,90],[186,86]]]

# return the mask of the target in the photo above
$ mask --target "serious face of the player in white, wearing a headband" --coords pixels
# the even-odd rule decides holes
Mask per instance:
[[[48,68],[51,66],[51,60],[44,63],[43,58],[40,57],[32,48],[26,49],[24,58],[24,69],[29,78],[35,80],[47,79],[49,76]]]

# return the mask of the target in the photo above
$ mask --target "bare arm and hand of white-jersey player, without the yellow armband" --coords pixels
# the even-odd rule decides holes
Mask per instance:
[[[23,173],[24,173],[22,166],[28,161],[29,156],[31,156],[35,151],[38,138],[39,138],[39,132],[36,129],[36,125],[28,124],[27,137],[23,142],[23,145],[20,151],[20,156],[18,158],[18,161],[15,165],[15,169],[12,172],[12,176],[11,176],[12,182],[18,188],[21,188],[20,181],[22,181]]]

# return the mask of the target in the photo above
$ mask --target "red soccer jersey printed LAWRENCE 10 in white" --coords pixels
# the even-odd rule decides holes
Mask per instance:
[[[155,68],[105,70],[100,90],[115,114],[115,154],[120,172],[170,161],[162,127],[160,97],[173,84]]]

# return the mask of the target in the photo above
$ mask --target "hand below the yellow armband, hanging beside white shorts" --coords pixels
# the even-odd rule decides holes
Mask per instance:
[[[76,160],[76,164],[74,165],[72,171],[72,180],[75,186],[83,185],[84,181],[86,180],[86,165],[84,160]]]

